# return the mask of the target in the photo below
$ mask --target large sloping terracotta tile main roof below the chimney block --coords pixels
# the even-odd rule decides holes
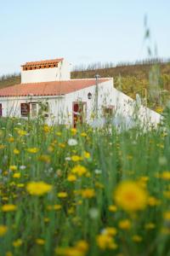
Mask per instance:
[[[99,79],[99,84],[110,79]],[[95,85],[95,79],[72,79],[31,84],[16,84],[0,90],[0,97],[8,96],[59,96]]]

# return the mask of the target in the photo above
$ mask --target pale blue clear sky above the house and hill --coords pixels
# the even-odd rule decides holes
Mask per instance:
[[[0,75],[62,56],[73,65],[146,58],[145,14],[151,47],[170,57],[169,0],[0,1]]]

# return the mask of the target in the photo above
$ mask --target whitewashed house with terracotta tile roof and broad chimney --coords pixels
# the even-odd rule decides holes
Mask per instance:
[[[135,102],[114,88],[113,79],[71,79],[70,65],[63,58],[26,62],[21,66],[21,84],[0,90],[0,115],[37,118],[48,123],[77,125],[121,113],[133,114]],[[140,107],[142,121],[159,123],[161,116]]]

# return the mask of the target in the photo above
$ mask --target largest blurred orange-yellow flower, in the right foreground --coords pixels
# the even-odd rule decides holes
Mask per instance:
[[[133,181],[118,184],[114,198],[116,204],[127,212],[143,210],[147,204],[146,191]]]

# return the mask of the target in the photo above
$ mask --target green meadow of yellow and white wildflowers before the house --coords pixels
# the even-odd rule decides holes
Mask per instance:
[[[0,119],[0,255],[170,255],[170,133]]]

